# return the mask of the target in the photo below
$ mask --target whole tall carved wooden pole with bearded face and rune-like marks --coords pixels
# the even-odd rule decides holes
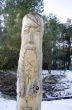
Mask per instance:
[[[43,31],[40,15],[24,16],[17,70],[17,110],[41,110]]]

